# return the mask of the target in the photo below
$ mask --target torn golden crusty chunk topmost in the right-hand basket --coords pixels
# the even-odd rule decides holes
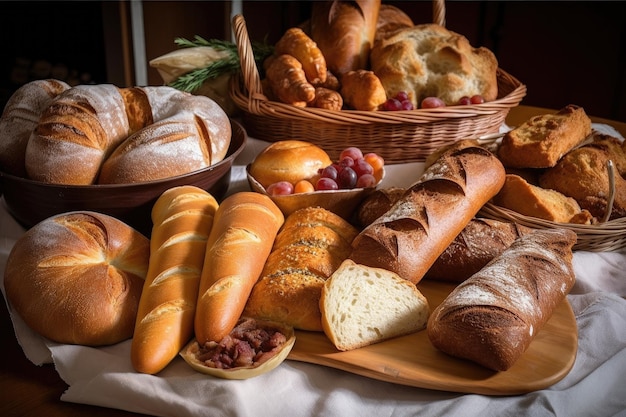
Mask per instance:
[[[531,117],[507,132],[498,157],[507,168],[553,167],[563,155],[591,134],[591,119],[573,104],[554,114]]]

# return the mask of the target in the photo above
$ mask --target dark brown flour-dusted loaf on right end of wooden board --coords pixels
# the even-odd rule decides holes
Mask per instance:
[[[524,235],[459,284],[432,312],[428,337],[441,351],[506,371],[526,351],[574,285],[576,233]]]

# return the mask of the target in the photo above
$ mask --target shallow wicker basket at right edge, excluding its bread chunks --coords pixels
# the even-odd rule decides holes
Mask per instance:
[[[491,203],[485,204],[479,215],[495,220],[512,221],[533,229],[570,229],[578,236],[574,250],[611,252],[626,248],[626,217],[597,225],[556,223],[525,216]]]

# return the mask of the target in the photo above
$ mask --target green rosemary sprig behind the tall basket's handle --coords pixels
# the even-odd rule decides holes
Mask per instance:
[[[226,59],[214,61],[205,68],[198,68],[183,74],[169,84],[171,87],[178,90],[194,92],[200,88],[206,80],[217,78],[223,74],[236,74],[241,70],[237,45],[233,42],[219,39],[206,40],[201,36],[196,35],[193,40],[176,38],[174,43],[181,48],[209,46],[215,50],[227,51],[229,53]],[[274,47],[266,42],[252,42],[252,52],[254,54],[254,61],[256,62],[257,67],[262,68],[263,61],[274,52]]]

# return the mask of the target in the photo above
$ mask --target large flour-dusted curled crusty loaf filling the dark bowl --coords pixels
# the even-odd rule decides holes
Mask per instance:
[[[36,181],[94,184],[104,161],[124,142],[99,182],[143,182],[215,164],[230,139],[228,116],[208,97],[167,86],[79,85],[43,111],[25,166]]]

